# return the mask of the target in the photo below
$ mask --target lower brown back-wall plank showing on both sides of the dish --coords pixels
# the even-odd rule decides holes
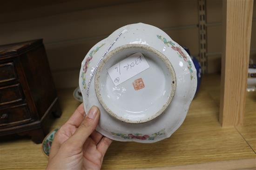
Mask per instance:
[[[196,56],[195,54],[198,51],[198,43],[195,43],[198,42],[198,31],[196,27],[188,30],[166,30],[166,32],[179,44],[187,45],[191,54]],[[94,39],[82,43],[70,43],[60,46],[46,45],[50,67],[53,68],[54,82],[58,88],[70,88],[78,85],[81,61],[88,50],[99,40]],[[69,82],[63,83],[65,80],[69,80]]]

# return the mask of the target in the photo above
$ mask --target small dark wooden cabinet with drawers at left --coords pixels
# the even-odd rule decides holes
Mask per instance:
[[[0,46],[0,136],[26,134],[40,143],[49,113],[61,116],[42,39]]]

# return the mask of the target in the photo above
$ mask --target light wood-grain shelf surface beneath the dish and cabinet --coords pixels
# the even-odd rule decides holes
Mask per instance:
[[[59,90],[63,114],[60,119],[48,122],[50,130],[61,126],[80,104],[74,100],[73,90]],[[245,126],[221,127],[220,75],[206,75],[184,123],[169,139],[154,144],[114,141],[102,169],[256,168],[255,100],[255,92],[247,93]],[[27,138],[1,139],[0,161],[1,170],[39,170],[47,165],[41,145]]]

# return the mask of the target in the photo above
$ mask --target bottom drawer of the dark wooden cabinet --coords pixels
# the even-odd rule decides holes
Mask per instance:
[[[22,124],[30,119],[27,104],[0,109],[0,127],[10,124]]]

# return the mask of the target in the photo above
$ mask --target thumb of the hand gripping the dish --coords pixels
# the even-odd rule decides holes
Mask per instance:
[[[74,142],[78,147],[82,147],[86,139],[94,132],[94,129],[98,125],[100,118],[100,110],[98,107],[93,106],[89,110],[89,113],[82,121],[74,135],[70,138],[70,142]]]

